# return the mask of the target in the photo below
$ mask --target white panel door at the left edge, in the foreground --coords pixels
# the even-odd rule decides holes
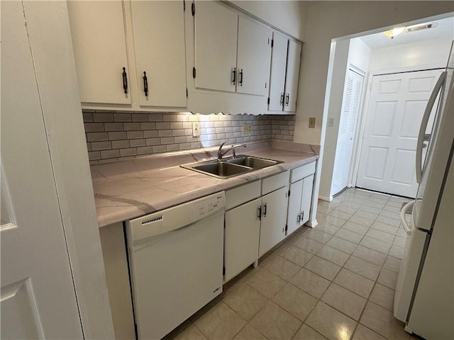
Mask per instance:
[[[83,339],[21,1],[1,1],[1,339]]]

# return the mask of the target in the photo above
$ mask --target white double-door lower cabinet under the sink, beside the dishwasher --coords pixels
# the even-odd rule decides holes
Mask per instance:
[[[285,237],[289,171],[226,191],[224,283]]]

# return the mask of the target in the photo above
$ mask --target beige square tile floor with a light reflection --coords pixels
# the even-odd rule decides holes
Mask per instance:
[[[350,188],[166,339],[411,339],[392,314],[408,200]]]

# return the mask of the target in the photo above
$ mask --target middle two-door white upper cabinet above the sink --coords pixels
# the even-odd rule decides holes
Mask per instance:
[[[272,30],[214,1],[195,6],[195,87],[266,96]]]

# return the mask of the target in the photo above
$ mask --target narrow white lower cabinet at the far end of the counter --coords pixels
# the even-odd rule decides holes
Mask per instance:
[[[287,211],[287,235],[309,221],[315,162],[292,170]]]

